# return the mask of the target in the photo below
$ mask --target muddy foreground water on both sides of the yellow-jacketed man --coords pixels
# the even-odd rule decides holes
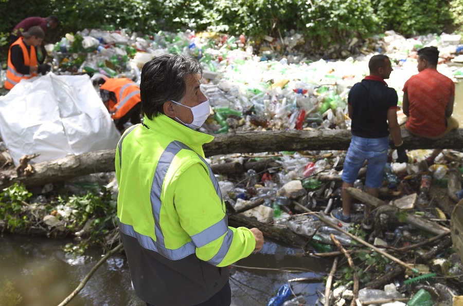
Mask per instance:
[[[62,251],[66,240],[5,235],[0,237],[0,306],[50,306],[61,303],[101,258],[99,249],[85,257],[73,258]],[[331,262],[302,256],[300,250],[267,241],[263,250],[240,260],[230,278],[232,305],[265,305],[288,279],[323,277]],[[298,272],[286,272],[279,269]],[[304,269],[304,271],[300,271]],[[296,294],[314,305],[316,292],[324,292],[318,283],[293,283]],[[21,302],[14,298],[21,296]],[[141,306],[131,288],[128,265],[123,255],[113,255],[86,283],[69,306],[120,305]]]

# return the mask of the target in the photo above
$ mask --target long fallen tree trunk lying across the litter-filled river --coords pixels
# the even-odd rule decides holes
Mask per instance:
[[[416,137],[402,130],[402,138],[406,149],[461,149],[463,129],[453,130],[439,140]],[[206,156],[276,151],[347,150],[350,139],[349,130],[236,131],[215,135],[215,139],[203,147]],[[2,170],[0,189],[15,182],[37,186],[92,173],[114,171],[114,155],[115,150],[103,150],[37,163],[33,164],[35,174],[30,176],[17,175],[14,169]]]

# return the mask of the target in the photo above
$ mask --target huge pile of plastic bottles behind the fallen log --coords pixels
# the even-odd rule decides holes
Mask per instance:
[[[346,120],[347,94],[368,74],[368,55],[384,49],[400,69],[410,62],[411,50],[426,44],[439,41],[443,54],[461,52],[463,45],[456,44],[454,36],[406,40],[388,31],[382,39],[368,39],[362,52],[344,61],[311,59],[298,52],[297,46],[304,41],[294,31],[281,40],[268,37],[256,46],[244,35],[215,32],[142,35],[124,29],[84,29],[66,34],[46,50],[54,73],[102,73],[136,82],[141,67],[154,56],[172,52],[194,56],[204,67],[202,89],[215,109],[215,116],[205,125],[210,133],[230,129],[345,129],[350,124]],[[463,73],[460,70],[449,73],[458,75]],[[389,86],[401,93],[403,83],[396,85],[393,79]]]

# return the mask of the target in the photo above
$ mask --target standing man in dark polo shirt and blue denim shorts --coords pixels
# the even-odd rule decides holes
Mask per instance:
[[[405,149],[402,147],[400,127],[397,122],[397,92],[387,87],[385,79],[393,68],[386,55],[373,55],[368,63],[370,75],[360,83],[352,86],[349,92],[348,111],[352,120],[352,140],[344,162],[343,207],[331,212],[344,226],[350,226],[350,205],[352,197],[346,187],[353,187],[365,160],[368,161],[365,186],[368,194],[378,197],[379,187],[383,182],[383,170],[387,162],[389,133],[394,141],[399,158],[397,162],[407,161]],[[369,207],[365,208],[365,217]],[[365,218],[363,227],[371,228],[372,218]]]

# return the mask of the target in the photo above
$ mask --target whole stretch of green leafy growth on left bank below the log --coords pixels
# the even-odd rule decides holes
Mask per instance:
[[[29,204],[31,199],[24,184],[16,183],[0,193],[0,220],[11,232],[27,232],[31,225],[42,223],[45,215],[52,214],[57,221],[54,226],[62,227],[61,233],[74,236],[80,232],[78,236],[85,238],[68,248],[75,254],[83,253],[91,244],[105,245],[108,237],[117,232],[117,201],[105,188],[87,191],[83,196],[58,196],[46,204]],[[54,226],[50,231],[56,230]]]

